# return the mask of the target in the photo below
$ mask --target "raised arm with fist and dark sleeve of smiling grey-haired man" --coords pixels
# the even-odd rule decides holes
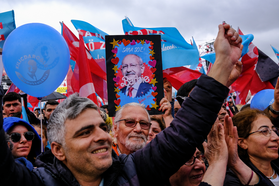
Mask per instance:
[[[228,95],[229,89],[225,85],[238,60],[241,41],[229,25],[219,25],[214,44],[216,61],[211,73],[200,77],[170,127],[133,154],[141,185],[163,184],[206,139]]]

